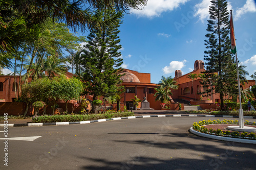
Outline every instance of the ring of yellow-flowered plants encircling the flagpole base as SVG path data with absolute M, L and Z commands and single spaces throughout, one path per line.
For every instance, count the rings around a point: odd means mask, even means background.
M 256 134 L 251 132 L 238 132 L 238 131 L 229 131 L 229 130 L 221 130 L 221 129 L 208 129 L 205 125 L 214 125 L 214 124 L 230 124 L 230 125 L 238 125 L 238 120 L 203 120 L 199 121 L 199 123 L 195 122 L 193 124 L 193 129 L 210 135 L 218 135 L 225 137 L 236 137 L 236 138 L 244 138 L 244 139 L 256 139 Z M 255 122 L 249 123 L 248 120 L 245 121 L 245 125 L 255 125 Z

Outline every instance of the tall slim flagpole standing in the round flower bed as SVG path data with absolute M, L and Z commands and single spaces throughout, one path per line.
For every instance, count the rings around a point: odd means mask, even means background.
M 233 16 L 232 16 L 232 10 L 230 10 L 230 15 L 232 19 L 232 25 L 233 25 Z M 230 24 L 231 27 L 231 24 Z M 231 29 L 230 29 L 231 30 Z M 231 33 L 230 34 L 234 34 Z M 231 38 L 231 36 L 230 36 Z M 233 37 L 234 38 L 234 37 Z M 236 39 L 234 39 L 234 43 L 236 44 Z M 241 103 L 241 90 L 240 90 L 240 79 L 239 79 L 239 69 L 238 69 L 238 55 L 237 55 L 237 51 L 236 51 L 236 63 L 237 63 L 237 74 L 238 74 L 238 93 L 239 93 L 239 105 L 240 105 L 240 109 L 239 109 L 239 127 L 240 128 L 244 128 L 244 113 L 243 113 L 243 109 L 242 109 L 242 103 Z

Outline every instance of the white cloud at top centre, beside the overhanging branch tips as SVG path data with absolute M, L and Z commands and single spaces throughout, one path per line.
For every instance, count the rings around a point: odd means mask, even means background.
M 150 0 L 147 1 L 147 5 L 142 10 L 131 9 L 133 14 L 138 17 L 158 17 L 162 12 L 173 11 L 179 8 L 180 5 L 185 4 L 189 0 Z

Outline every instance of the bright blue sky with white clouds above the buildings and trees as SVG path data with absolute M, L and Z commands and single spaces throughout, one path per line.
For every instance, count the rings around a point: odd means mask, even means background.
M 252 75 L 256 71 L 255 0 L 227 2 L 228 11 L 233 10 L 238 58 Z M 174 77 L 176 69 L 183 75 L 193 70 L 195 60 L 204 60 L 209 6 L 210 0 L 148 0 L 143 10 L 131 9 L 119 28 L 123 68 L 150 73 L 152 83 L 161 76 Z

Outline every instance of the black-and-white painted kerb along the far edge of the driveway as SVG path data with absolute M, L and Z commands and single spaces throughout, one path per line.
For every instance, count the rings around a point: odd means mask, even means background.
M 90 124 L 96 122 L 105 122 L 108 120 L 131 119 L 131 118 L 149 118 L 149 117 L 226 117 L 226 118 L 239 118 L 239 116 L 230 115 L 202 115 L 202 114 L 172 114 L 172 115 L 142 115 L 142 116 L 128 116 L 128 117 L 114 117 L 108 119 L 88 120 L 81 122 L 53 122 L 53 123 L 28 123 L 28 124 L 8 124 L 8 127 L 26 127 L 26 126 L 58 126 L 58 125 L 75 125 L 75 124 Z M 256 118 L 256 116 L 244 116 L 244 118 Z M 4 127 L 4 124 L 0 124 Z

